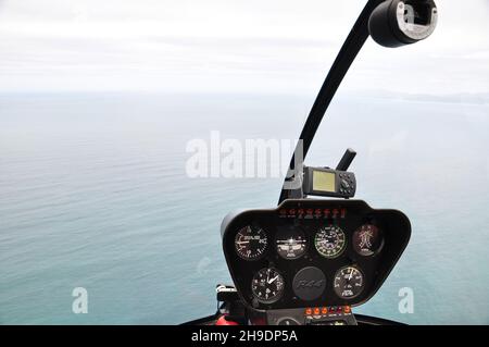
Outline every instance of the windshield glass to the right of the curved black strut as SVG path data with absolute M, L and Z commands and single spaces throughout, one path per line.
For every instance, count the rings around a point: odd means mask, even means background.
M 368 39 L 306 162 L 334 165 L 354 148 L 356 197 L 411 220 L 404 255 L 358 312 L 487 324 L 489 4 L 439 2 L 438 27 L 426 41 L 392 50 Z

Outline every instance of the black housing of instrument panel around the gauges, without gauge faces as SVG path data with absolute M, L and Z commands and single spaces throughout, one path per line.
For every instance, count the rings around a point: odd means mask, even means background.
M 329 214 L 324 213 L 326 210 Z M 299 211 L 303 213 L 299 214 Z M 367 223 L 381 230 L 384 244 L 375 255 L 365 257 L 354 250 L 352 235 L 361 225 Z M 319 256 L 314 247 L 316 231 L 330 224 L 340 226 L 347 238 L 344 251 L 335 259 Z M 267 234 L 267 248 L 263 257 L 256 260 L 243 260 L 235 250 L 236 234 L 247 225 L 260 226 Z M 302 257 L 285 259 L 277 253 L 276 235 L 283 228 L 301 228 L 305 233 L 308 249 Z M 398 210 L 372 209 L 362 200 L 288 199 L 275 209 L 229 213 L 223 221 L 221 232 L 227 267 L 242 301 L 251 309 L 275 310 L 359 306 L 366 302 L 380 288 L 408 246 L 411 223 L 408 216 Z M 351 299 L 337 296 L 333 286 L 336 272 L 346 265 L 359 268 L 364 275 L 364 289 Z M 326 288 L 322 296 L 314 300 L 300 299 L 292 288 L 294 275 L 306 267 L 316 267 L 326 276 Z M 251 292 L 252 277 L 263 268 L 277 269 L 285 280 L 284 295 L 273 303 L 258 301 Z

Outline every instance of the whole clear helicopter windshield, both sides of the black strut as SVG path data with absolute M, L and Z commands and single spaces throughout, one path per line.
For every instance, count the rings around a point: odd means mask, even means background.
M 231 283 L 221 222 L 276 205 L 365 3 L 343 2 L 0 2 L 0 323 L 214 313 L 215 285 Z M 489 5 L 457 3 L 439 4 L 426 42 L 366 42 L 306 159 L 335 166 L 354 148 L 356 197 L 412 221 L 361 313 L 489 323 Z M 254 158 L 259 139 L 280 153 Z M 233 148 L 241 157 L 226 166 Z

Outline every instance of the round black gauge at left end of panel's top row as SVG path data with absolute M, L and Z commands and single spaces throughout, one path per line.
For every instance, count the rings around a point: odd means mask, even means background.
M 258 226 L 244 226 L 235 237 L 236 252 L 244 260 L 259 259 L 264 255 L 266 245 L 266 234 Z

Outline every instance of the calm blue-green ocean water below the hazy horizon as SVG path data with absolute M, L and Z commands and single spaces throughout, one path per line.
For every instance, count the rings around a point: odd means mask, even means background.
M 174 324 L 211 314 L 230 278 L 220 224 L 273 207 L 281 181 L 189 178 L 186 145 L 293 139 L 313 99 L 251 95 L 1 95 L 0 323 Z M 342 96 L 306 160 L 347 147 L 356 197 L 397 208 L 411 243 L 358 312 L 489 324 L 489 104 Z M 287 163 L 284 163 L 285 165 Z M 72 290 L 88 290 L 74 314 Z M 414 293 L 401 313 L 399 290 Z

